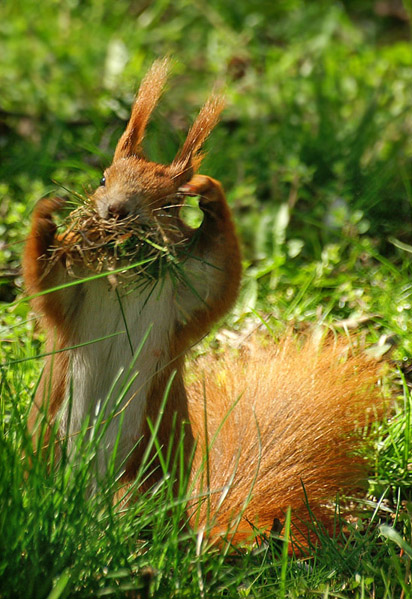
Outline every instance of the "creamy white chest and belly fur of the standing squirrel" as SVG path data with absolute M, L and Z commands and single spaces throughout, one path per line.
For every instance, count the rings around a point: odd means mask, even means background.
M 85 284 L 81 294 L 70 343 L 84 345 L 71 350 L 61 429 L 72 444 L 85 423 L 93 430 L 93 422 L 104 409 L 103 420 L 109 421 L 98 452 L 102 473 L 121 420 L 117 464 L 142 434 L 147 393 L 156 373 L 170 361 L 175 301 L 167 280 L 144 291 L 121 286 L 117 293 L 107 280 L 99 279 Z

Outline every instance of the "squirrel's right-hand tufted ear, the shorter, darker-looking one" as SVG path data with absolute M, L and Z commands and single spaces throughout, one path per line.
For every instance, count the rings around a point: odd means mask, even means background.
M 225 105 L 222 95 L 212 94 L 199 112 L 193 123 L 183 147 L 177 153 L 172 166 L 177 169 L 192 168 L 196 172 L 202 162 L 201 149 L 209 133 L 217 125 L 220 113 Z

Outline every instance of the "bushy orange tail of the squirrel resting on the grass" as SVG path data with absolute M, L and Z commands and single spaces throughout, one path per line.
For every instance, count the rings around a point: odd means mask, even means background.
M 289 506 L 307 520 L 305 492 L 322 518 L 326 500 L 359 485 L 355 432 L 382 411 L 380 365 L 354 355 L 347 340 L 321 349 L 258 341 L 231 358 L 200 359 L 189 389 L 199 439 L 193 479 L 207 496 L 200 524 L 211 517 L 223 532 L 232 523 L 239 538 L 254 526 L 270 530 Z

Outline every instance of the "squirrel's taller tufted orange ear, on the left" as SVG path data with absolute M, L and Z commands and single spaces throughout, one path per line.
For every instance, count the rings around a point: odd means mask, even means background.
M 141 142 L 146 125 L 162 94 L 169 68 L 170 60 L 163 58 L 155 60 L 146 73 L 133 104 L 126 131 L 117 143 L 113 162 L 119 160 L 119 158 L 127 158 L 133 155 L 142 156 Z

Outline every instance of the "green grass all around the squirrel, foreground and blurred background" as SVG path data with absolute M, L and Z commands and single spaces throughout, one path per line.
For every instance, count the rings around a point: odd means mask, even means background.
M 412 595 L 412 54 L 410 24 L 375 4 L 1 4 L 2 599 Z M 175 77 L 145 140 L 152 159 L 170 161 L 214 82 L 226 86 L 202 167 L 222 180 L 244 251 L 225 327 L 258 315 L 276 335 L 357 325 L 365 345 L 394 344 L 383 384 L 399 401 L 366 444 L 359 518 L 336 538 L 318 530 L 304 556 L 286 552 L 287 527 L 253 550 L 210 547 L 185 526 L 184 480 L 177 495 L 165 476 L 116 507 L 113 472 L 89 492 L 96 439 L 57 465 L 26 432 L 44 351 L 19 272 L 30 213 L 47 194 L 98 184 L 138 80 L 168 53 Z

